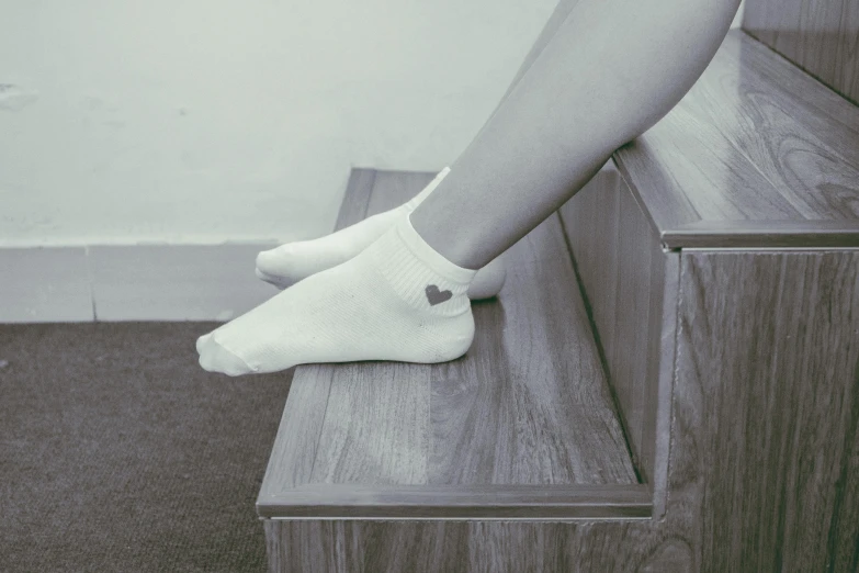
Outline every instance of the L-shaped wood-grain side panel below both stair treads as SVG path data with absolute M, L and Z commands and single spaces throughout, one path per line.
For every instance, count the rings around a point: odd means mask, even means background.
M 670 255 L 663 518 L 268 521 L 272 571 L 857 571 L 859 252 Z

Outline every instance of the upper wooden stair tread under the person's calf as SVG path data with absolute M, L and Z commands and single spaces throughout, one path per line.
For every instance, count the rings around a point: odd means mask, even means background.
M 859 246 L 859 108 L 741 30 L 613 159 L 668 248 Z

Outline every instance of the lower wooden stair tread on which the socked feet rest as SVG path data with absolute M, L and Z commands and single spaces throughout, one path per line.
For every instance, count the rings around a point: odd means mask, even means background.
M 402 204 L 432 177 L 353 170 L 338 227 Z M 498 300 L 474 303 L 465 357 L 296 369 L 260 515 L 286 510 L 290 493 L 308 486 L 324 496 L 320 484 L 624 485 L 644 495 L 557 215 L 504 257 L 507 282 Z

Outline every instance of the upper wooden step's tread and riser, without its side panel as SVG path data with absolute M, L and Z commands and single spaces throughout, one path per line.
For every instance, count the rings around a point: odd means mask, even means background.
M 561 215 L 659 514 L 675 360 L 663 338 L 675 335 L 681 251 L 859 247 L 859 108 L 732 31 L 682 101 L 602 175 Z

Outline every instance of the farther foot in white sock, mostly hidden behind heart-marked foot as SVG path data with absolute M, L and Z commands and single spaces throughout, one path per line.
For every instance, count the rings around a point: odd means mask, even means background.
M 342 265 L 381 237 L 395 222 L 411 213 L 450 171 L 439 172 L 417 196 L 407 203 L 370 216 L 330 235 L 313 239 L 287 243 L 257 256 L 257 277 L 283 290 L 298 281 Z M 507 269 L 500 258 L 493 260 L 475 274 L 468 297 L 491 299 L 504 286 Z

